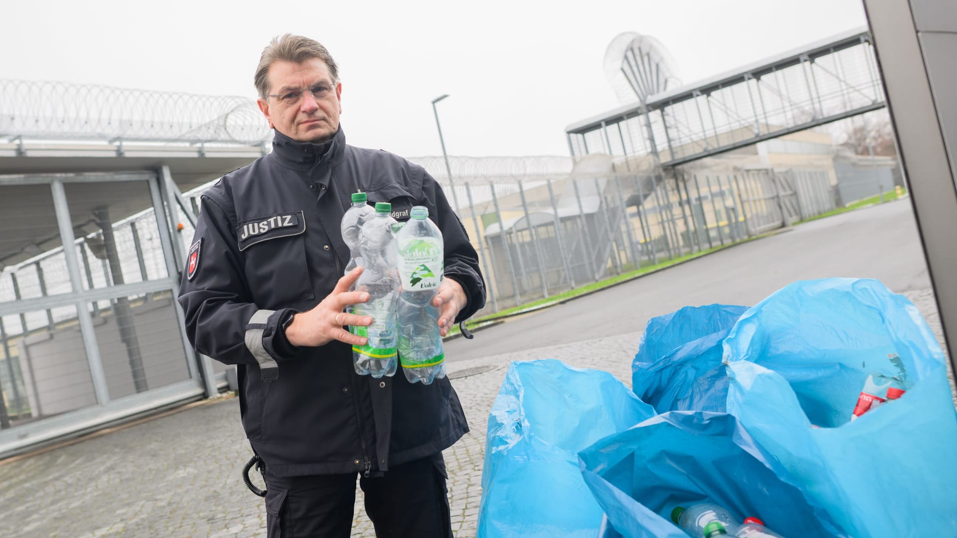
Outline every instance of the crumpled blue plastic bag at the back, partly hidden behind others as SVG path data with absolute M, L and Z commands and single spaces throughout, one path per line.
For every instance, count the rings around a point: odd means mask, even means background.
M 722 341 L 747 306 L 685 306 L 648 321 L 632 363 L 632 390 L 658 413 L 723 413 Z

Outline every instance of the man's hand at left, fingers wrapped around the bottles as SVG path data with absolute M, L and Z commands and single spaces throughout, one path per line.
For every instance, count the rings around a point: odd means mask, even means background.
M 286 326 L 289 343 L 293 346 L 317 347 L 338 340 L 354 346 L 365 345 L 366 337 L 356 336 L 343 328 L 343 325 L 372 325 L 369 316 L 345 313 L 346 306 L 368 301 L 367 292 L 349 291 L 349 286 L 359 280 L 362 271 L 362 267 L 356 267 L 339 279 L 332 293 L 325 296 L 322 303 L 308 312 L 293 316 L 293 321 Z

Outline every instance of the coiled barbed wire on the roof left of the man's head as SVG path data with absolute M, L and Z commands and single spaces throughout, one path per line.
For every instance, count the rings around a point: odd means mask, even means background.
M 248 98 L 0 79 L 0 137 L 257 146 L 270 136 Z

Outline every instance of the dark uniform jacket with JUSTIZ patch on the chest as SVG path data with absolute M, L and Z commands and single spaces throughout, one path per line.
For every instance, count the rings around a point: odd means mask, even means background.
M 391 202 L 407 220 L 429 208 L 442 232 L 445 277 L 468 298 L 456 321 L 485 302 L 475 249 L 424 168 L 381 150 L 276 132 L 273 152 L 202 196 L 179 302 L 193 347 L 237 365 L 243 427 L 277 476 L 361 471 L 432 456 L 468 432 L 447 378 L 431 385 L 357 375 L 351 347 L 293 347 L 284 324 L 320 303 L 344 274 L 340 222 L 349 195 Z

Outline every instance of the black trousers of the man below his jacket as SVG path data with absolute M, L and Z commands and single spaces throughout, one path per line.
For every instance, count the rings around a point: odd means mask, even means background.
M 352 531 L 356 476 L 280 478 L 266 467 L 269 538 L 343 537 Z M 378 538 L 453 538 L 442 454 L 361 478 L 366 513 Z

